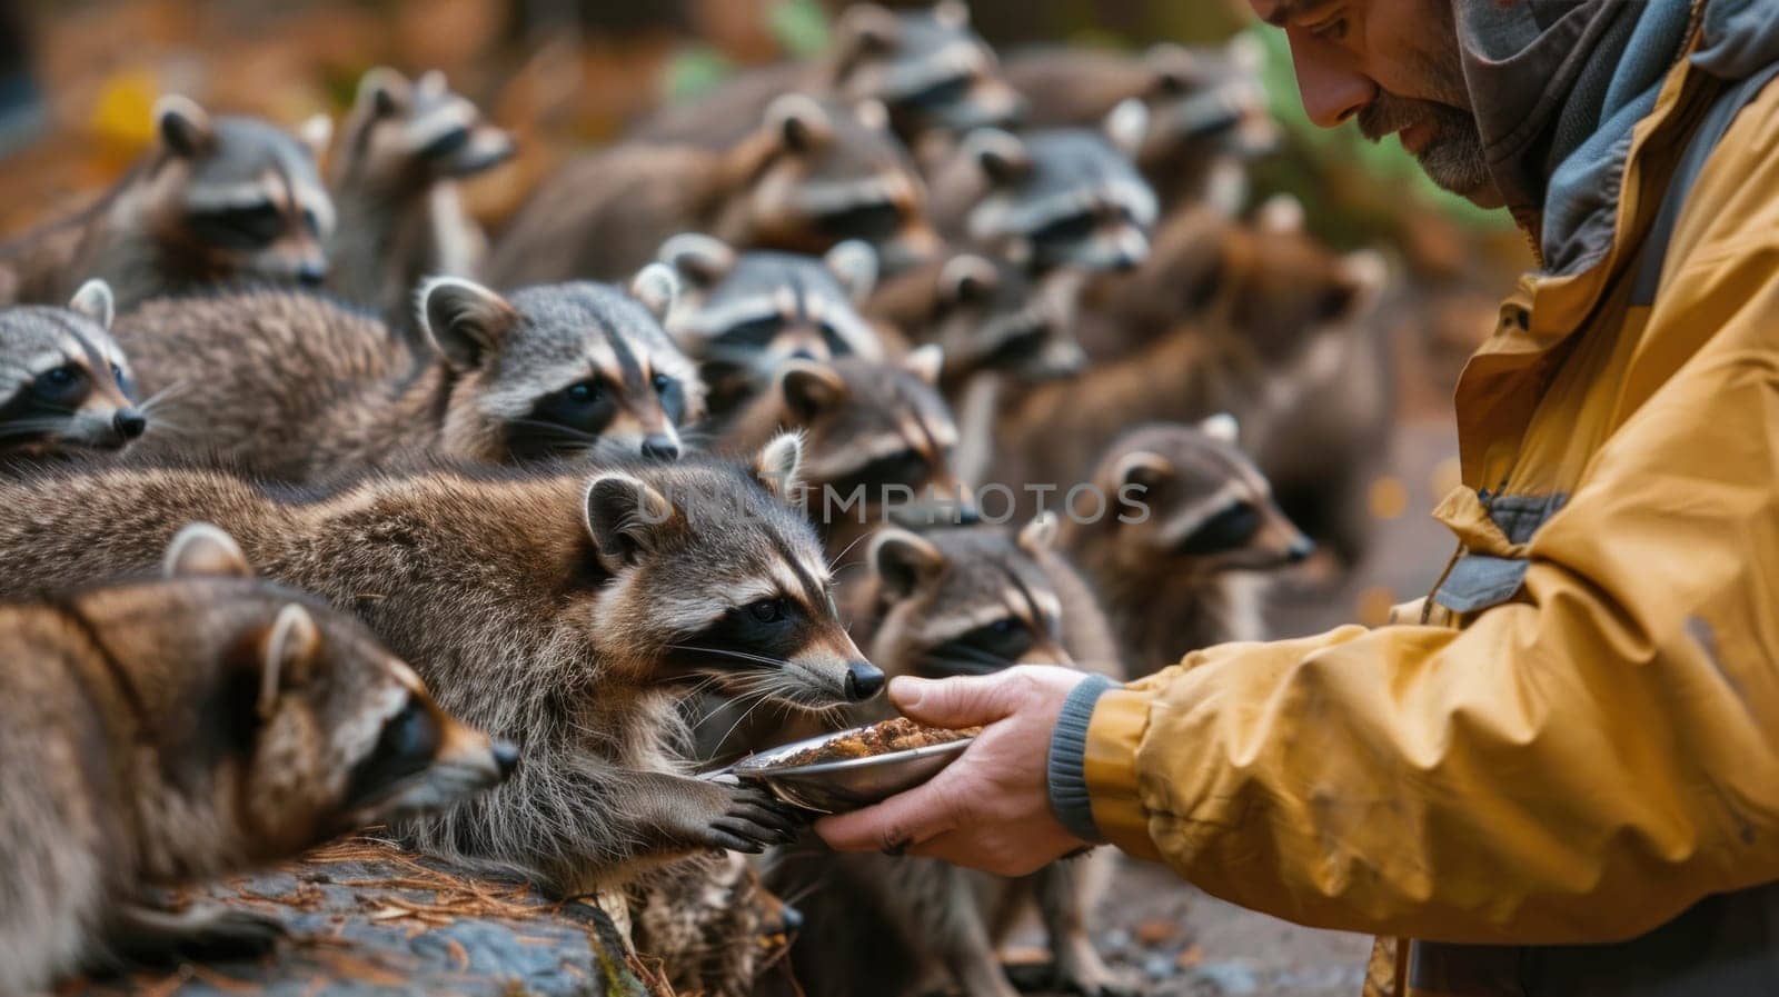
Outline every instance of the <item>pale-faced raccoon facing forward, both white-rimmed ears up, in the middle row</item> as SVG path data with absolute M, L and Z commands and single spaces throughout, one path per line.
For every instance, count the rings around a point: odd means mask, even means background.
M 719 423 L 765 391 L 785 361 L 886 352 L 856 311 L 877 279 L 877 254 L 863 242 L 813 258 L 737 252 L 722 240 L 681 233 L 658 258 L 681 286 L 664 325 L 697 361 Z

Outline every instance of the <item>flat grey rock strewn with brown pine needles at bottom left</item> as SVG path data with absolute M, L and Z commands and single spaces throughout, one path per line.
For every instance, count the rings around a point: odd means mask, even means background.
M 201 890 L 290 929 L 247 961 L 71 981 L 59 995 L 664 997 L 614 919 L 511 881 L 354 839 L 270 873 Z

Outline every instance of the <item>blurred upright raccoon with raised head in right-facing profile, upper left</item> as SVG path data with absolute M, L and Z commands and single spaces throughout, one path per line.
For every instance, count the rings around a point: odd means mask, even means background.
M 452 92 L 445 75 L 409 80 L 377 68 L 358 82 L 327 185 L 352 220 L 334 233 L 327 286 L 413 331 L 409 299 L 423 277 L 470 277 L 487 251 L 457 195 L 457 181 L 516 151 L 512 135 Z

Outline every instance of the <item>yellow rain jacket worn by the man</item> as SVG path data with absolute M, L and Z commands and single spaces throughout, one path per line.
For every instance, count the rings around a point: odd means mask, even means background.
M 1418 624 L 1099 700 L 1114 844 L 1386 937 L 1368 995 L 1779 993 L 1779 85 L 1747 84 L 1676 64 L 1610 251 L 1503 304 Z

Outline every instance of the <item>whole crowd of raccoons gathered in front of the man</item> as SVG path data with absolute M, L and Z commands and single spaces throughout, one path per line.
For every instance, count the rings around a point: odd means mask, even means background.
M 1012 993 L 1034 901 L 1046 985 L 1119 992 L 1101 864 L 838 857 L 696 773 L 888 675 L 1258 638 L 1260 572 L 1357 556 L 1382 267 L 1238 211 L 1254 73 L 857 5 L 491 238 L 455 185 L 514 144 L 438 73 L 338 135 L 164 98 L 0 245 L 0 993 L 260 951 L 158 890 L 375 823 L 624 897 L 688 992 L 754 992 L 772 894 L 815 997 Z

